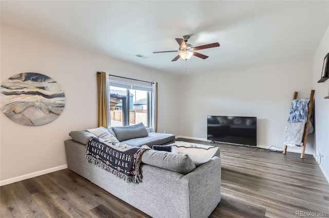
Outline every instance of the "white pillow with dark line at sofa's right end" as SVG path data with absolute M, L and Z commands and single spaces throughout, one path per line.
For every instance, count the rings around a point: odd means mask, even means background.
M 217 152 L 218 147 L 193 143 L 174 143 L 171 149 L 172 152 L 186 153 L 195 166 L 199 166 L 208 162 Z

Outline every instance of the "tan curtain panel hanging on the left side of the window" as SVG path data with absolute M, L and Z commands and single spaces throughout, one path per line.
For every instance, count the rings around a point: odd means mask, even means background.
M 97 72 L 98 126 L 108 127 L 108 75 Z

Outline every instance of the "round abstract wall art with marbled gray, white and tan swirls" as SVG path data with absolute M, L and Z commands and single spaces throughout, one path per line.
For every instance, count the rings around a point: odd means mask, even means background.
M 50 123 L 65 107 L 62 87 L 40 73 L 20 73 L 0 87 L 1 111 L 10 120 L 27 126 Z

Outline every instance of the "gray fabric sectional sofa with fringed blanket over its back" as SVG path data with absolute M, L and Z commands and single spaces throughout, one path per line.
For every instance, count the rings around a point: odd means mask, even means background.
M 127 183 L 87 162 L 88 132 L 72 131 L 70 135 L 72 140 L 64 142 L 70 170 L 154 218 L 206 218 L 221 201 L 221 158 L 218 156 L 196 167 L 185 153 L 150 149 L 141 157 L 142 182 Z M 149 133 L 125 143 L 146 142 L 152 147 L 151 138 L 158 138 L 158 142 L 173 140 L 171 137 L 165 140 L 167 136 Z

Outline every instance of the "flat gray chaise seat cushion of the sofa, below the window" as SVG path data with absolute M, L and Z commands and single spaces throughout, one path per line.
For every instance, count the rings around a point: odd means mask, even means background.
M 175 135 L 169 133 L 158 133 L 149 132 L 146 137 L 133 138 L 126 141 L 120 141 L 130 146 L 140 147 L 142 145 L 147 145 L 152 148 L 153 145 L 163 145 L 166 143 L 173 142 L 175 140 Z

